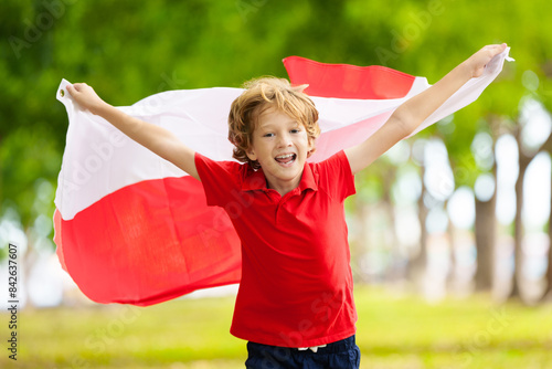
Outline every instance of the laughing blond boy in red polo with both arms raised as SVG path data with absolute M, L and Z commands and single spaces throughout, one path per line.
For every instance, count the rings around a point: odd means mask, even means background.
M 300 87 L 282 80 L 257 80 L 232 104 L 229 139 L 234 158 L 246 165 L 194 152 L 164 128 L 106 104 L 86 84 L 67 91 L 83 108 L 200 180 L 208 203 L 226 209 L 243 264 L 231 331 L 248 340 L 247 368 L 358 368 L 343 213 L 353 176 L 505 49 L 485 46 L 405 102 L 364 143 L 318 164 L 306 162 L 319 134 L 318 112 Z M 238 211 L 227 207 L 236 194 Z

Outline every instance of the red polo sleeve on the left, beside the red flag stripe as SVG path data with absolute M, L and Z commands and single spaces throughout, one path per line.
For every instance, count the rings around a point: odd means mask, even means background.
M 215 161 L 195 152 L 195 168 L 200 176 L 208 205 L 224 207 L 238 188 L 240 164 Z

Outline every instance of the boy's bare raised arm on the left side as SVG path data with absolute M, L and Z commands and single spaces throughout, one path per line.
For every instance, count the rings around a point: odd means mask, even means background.
M 171 131 L 131 117 L 113 107 L 85 83 L 67 85 L 67 91 L 81 107 L 103 117 L 132 140 L 169 160 L 193 178 L 200 179 L 195 169 L 195 152 L 182 144 Z

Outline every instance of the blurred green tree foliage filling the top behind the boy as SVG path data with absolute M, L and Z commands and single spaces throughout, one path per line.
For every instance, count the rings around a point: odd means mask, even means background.
M 537 92 L 552 108 L 549 10 L 544 0 L 4 0 L 0 217 L 15 210 L 32 247 L 36 220 L 52 215 L 53 203 L 38 207 L 34 200 L 44 180 L 55 188 L 60 169 L 67 118 L 53 93 L 62 77 L 88 82 L 114 105 L 166 89 L 285 76 L 280 61 L 291 54 L 328 63 L 383 64 L 435 82 L 485 43 L 506 41 L 518 61 L 477 103 L 455 114 L 452 124 L 421 134 L 439 131 L 456 184 L 474 186 L 485 171 L 469 147 L 478 131 L 488 129 L 479 118 L 518 117 L 524 71 L 539 76 Z

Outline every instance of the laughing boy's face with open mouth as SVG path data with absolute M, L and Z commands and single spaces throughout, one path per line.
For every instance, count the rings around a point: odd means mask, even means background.
M 311 149 L 305 127 L 287 114 L 270 108 L 258 117 L 247 156 L 258 161 L 269 188 L 287 193 L 299 184 Z

